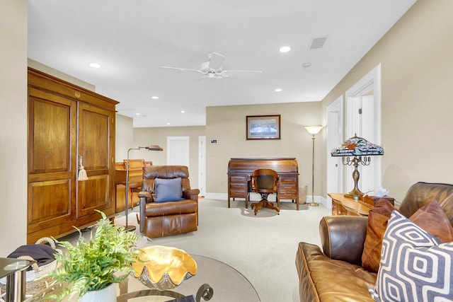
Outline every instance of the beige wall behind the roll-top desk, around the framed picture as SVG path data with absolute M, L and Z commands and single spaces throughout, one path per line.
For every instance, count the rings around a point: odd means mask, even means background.
M 247 115 L 281 115 L 281 139 L 246 140 Z M 306 132 L 304 126 L 319 124 L 320 102 L 208 107 L 206 191 L 228 192 L 228 162 L 235 157 L 294 157 L 299 163 L 299 187 L 310 187 L 311 134 Z M 211 139 L 217 139 L 217 144 L 210 144 Z M 316 141 L 315 170 L 318 171 L 321 166 L 321 150 L 317 149 L 319 145 L 319 141 Z M 315 195 L 320 194 L 320 188 L 321 173 L 315 173 Z

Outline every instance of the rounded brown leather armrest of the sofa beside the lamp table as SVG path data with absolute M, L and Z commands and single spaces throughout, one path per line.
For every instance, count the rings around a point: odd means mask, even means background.
M 365 216 L 323 217 L 319 223 L 319 236 L 324 254 L 331 259 L 362 265 L 367 220 Z

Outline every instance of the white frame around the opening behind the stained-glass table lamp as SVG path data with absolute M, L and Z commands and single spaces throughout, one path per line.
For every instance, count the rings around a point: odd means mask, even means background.
M 357 100 L 357 96 L 362 95 L 365 91 L 373 90 L 374 93 L 374 106 L 372 110 L 374 111 L 372 114 L 374 116 L 374 129 L 373 140 L 371 141 L 373 144 L 380 145 L 381 144 L 381 64 L 379 63 L 374 69 L 369 71 L 367 75 L 365 75 L 362 79 L 357 81 L 351 88 L 348 89 L 345 93 L 346 97 L 346 127 L 345 127 L 345 139 L 354 136 L 354 127 L 353 122 L 354 118 L 353 115 L 356 115 L 355 109 L 357 106 L 355 105 L 355 100 Z M 357 134 L 359 135 L 359 134 Z M 366 139 L 366 138 L 365 138 Z M 372 156 L 372 166 L 374 167 L 374 188 L 381 185 L 381 175 L 382 175 L 382 167 L 381 167 L 381 157 L 380 156 Z M 359 168 L 362 168 L 362 165 L 359 165 Z M 372 167 L 368 167 L 372 168 Z M 367 170 L 364 170 L 364 173 L 367 173 Z M 352 190 L 354 187 L 354 182 L 352 180 L 352 167 L 346 167 L 346 180 L 345 180 L 345 192 Z M 360 175 L 362 178 L 362 173 Z

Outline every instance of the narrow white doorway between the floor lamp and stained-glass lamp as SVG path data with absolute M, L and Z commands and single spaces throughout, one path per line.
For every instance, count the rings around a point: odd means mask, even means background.
M 326 108 L 327 117 L 327 192 L 343 192 L 343 164 L 339 156 L 331 156 L 331 151 L 343 142 L 343 95 Z M 332 199 L 327 196 L 327 209 L 332 208 Z

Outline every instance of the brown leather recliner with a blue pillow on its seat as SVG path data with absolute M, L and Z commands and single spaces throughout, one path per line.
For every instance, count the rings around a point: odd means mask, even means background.
M 155 179 L 181 178 L 183 200 L 155 202 Z M 198 194 L 190 189 L 189 170 L 185 165 L 147 165 L 143 168 L 140 198 L 140 232 L 149 238 L 197 231 Z

